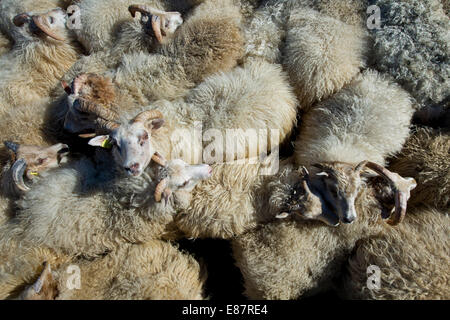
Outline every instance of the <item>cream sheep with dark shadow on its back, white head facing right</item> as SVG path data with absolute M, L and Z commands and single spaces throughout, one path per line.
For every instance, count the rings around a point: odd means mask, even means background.
M 168 169 L 152 163 L 140 177 L 124 177 L 109 155 L 97 164 L 88 158 L 71 161 L 42 177 L 16 201 L 15 217 L 1 226 L 0 244 L 8 248 L 9 242 L 17 241 L 96 257 L 126 242 L 176 239 L 171 227 L 175 209 L 153 197 L 167 174 L 176 183 L 171 201 L 183 203 L 193 187 L 210 176 L 211 168 L 171 160 Z

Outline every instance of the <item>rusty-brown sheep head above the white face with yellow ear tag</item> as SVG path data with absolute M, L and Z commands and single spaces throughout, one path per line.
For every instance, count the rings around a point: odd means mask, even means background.
M 70 86 L 64 81 L 62 86 L 68 95 L 69 105 L 64 130 L 92 138 L 99 131 L 108 133 L 117 127 L 116 95 L 111 79 L 83 73 Z

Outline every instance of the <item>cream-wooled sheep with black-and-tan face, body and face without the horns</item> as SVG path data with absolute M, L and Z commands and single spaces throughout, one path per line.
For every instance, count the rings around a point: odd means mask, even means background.
M 367 160 L 384 165 L 401 150 L 413 111 L 408 93 L 367 70 L 304 116 L 296 164 L 311 172 L 312 188 L 320 190 L 344 223 L 356 219 L 358 170 L 363 172 Z

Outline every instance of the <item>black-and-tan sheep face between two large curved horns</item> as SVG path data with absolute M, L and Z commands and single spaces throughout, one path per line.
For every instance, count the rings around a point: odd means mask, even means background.
M 356 167 L 339 162 L 314 165 L 319 172 L 311 176 L 313 188 L 343 223 L 352 223 L 356 219 L 355 199 L 362 184 L 360 174 L 364 164 Z

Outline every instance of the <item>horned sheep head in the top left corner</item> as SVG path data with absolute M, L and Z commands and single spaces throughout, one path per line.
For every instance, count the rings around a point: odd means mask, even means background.
M 31 37 L 48 36 L 58 41 L 66 39 L 66 22 L 67 14 L 61 8 L 38 15 L 21 13 L 13 18 L 14 25 L 24 28 Z

